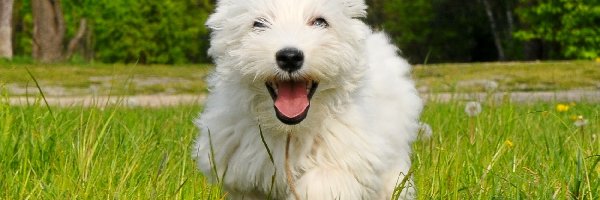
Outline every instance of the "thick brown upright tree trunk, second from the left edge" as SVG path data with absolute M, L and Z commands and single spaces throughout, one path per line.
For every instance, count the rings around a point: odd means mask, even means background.
M 33 58 L 56 62 L 63 58 L 65 21 L 60 0 L 32 0 Z

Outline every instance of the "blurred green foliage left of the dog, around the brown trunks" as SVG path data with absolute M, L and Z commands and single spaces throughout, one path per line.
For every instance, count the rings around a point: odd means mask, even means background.
M 181 64 L 207 62 L 204 21 L 209 0 L 64 0 L 67 39 L 82 18 L 88 32 L 79 56 L 114 63 Z M 31 54 L 30 0 L 16 5 L 16 54 Z M 77 58 L 75 58 L 77 59 Z

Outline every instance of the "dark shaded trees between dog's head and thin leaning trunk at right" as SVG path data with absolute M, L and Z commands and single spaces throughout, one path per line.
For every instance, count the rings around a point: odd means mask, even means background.
M 482 4 L 470 0 L 370 0 L 383 28 L 411 63 L 497 60 Z

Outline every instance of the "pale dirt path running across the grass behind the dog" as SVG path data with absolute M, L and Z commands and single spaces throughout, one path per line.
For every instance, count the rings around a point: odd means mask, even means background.
M 489 96 L 491 95 L 491 96 Z M 512 102 L 528 103 L 537 101 L 547 102 L 598 102 L 600 103 L 600 90 L 570 90 L 556 92 L 512 92 L 512 93 L 434 93 L 422 94 L 423 99 L 430 101 L 447 102 L 450 100 L 459 101 L 483 101 L 486 98 L 494 98 L 495 100 L 506 100 L 509 98 Z M 93 105 L 110 105 L 121 104 L 126 106 L 144 106 L 144 107 L 160 107 L 160 106 L 175 106 L 182 104 L 201 105 L 206 99 L 205 95 L 137 95 L 137 96 L 75 96 L 75 97 L 48 97 L 46 100 L 50 105 L 55 106 L 93 106 Z M 10 97 L 9 101 L 12 105 L 27 105 L 32 104 L 36 100 L 35 97 Z

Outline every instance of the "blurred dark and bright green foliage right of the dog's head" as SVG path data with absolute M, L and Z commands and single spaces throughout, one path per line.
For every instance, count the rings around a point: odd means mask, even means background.
M 412 63 L 494 61 L 483 1 L 507 60 L 600 56 L 600 0 L 367 0 L 368 21 Z

